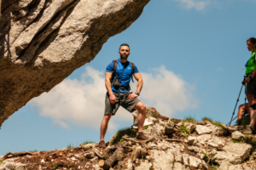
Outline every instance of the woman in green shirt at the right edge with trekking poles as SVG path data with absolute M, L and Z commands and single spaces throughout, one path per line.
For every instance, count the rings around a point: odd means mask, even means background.
M 247 78 L 242 83 L 245 83 L 245 94 L 247 95 L 249 107 L 249 114 L 251 116 L 250 125 L 242 132 L 244 134 L 252 134 L 256 124 L 256 38 L 251 37 L 247 40 L 247 48 L 252 52 L 250 59 L 248 59 L 246 66 Z

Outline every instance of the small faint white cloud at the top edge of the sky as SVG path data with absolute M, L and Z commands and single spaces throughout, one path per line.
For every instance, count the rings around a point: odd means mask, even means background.
M 202 10 L 207 8 L 212 2 L 211 0 L 176 0 L 185 8 L 195 8 L 196 10 Z

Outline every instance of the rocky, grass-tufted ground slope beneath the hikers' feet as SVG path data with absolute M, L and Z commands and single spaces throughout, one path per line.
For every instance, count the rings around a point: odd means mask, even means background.
M 135 124 L 136 117 L 135 114 Z M 221 123 L 184 121 L 161 116 L 147 108 L 147 141 L 134 139 L 126 128 L 113 135 L 112 144 L 80 144 L 71 149 L 8 153 L 0 170 L 21 169 L 256 169 L 255 135 L 244 136 Z M 136 127 L 136 125 L 134 125 Z

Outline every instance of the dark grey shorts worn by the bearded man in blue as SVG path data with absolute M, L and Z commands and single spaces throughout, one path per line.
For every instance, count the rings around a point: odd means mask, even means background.
M 121 102 L 121 100 L 123 99 L 124 97 L 124 94 L 120 94 L 120 98 L 118 98 L 118 94 L 115 94 L 115 98 L 116 98 L 116 102 L 115 104 L 111 104 L 110 103 L 110 99 L 109 99 L 109 94 L 107 93 L 106 94 L 106 99 L 105 99 L 105 113 L 104 115 L 109 115 L 109 114 L 113 114 L 115 115 L 115 113 L 119 110 L 119 106 L 121 105 L 123 108 L 125 108 L 125 110 L 127 111 L 130 111 L 130 112 L 133 112 L 135 111 L 133 108 L 135 107 L 135 105 L 137 105 L 138 102 L 140 102 L 139 99 L 137 98 L 134 98 L 132 100 L 128 99 L 128 95 L 131 94 L 126 94 L 126 97 L 125 97 L 125 102 Z M 113 116 L 112 115 L 112 116 Z

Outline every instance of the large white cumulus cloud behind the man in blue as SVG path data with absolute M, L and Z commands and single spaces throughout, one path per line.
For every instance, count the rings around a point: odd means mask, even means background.
M 155 107 L 162 115 L 172 116 L 177 111 L 193 108 L 197 99 L 195 89 L 183 78 L 166 70 L 164 66 L 155 68 L 143 76 L 143 92 L 140 99 L 145 105 Z M 99 128 L 104 113 L 105 73 L 90 66 L 84 70 L 80 79 L 65 79 L 55 88 L 32 99 L 30 105 L 36 105 L 41 116 L 52 118 L 61 127 L 70 128 L 71 124 Z M 137 83 L 131 83 L 131 90 L 136 91 Z M 114 120 L 131 122 L 132 116 L 124 109 L 119 109 Z M 117 121 L 109 122 L 108 127 L 118 127 Z

